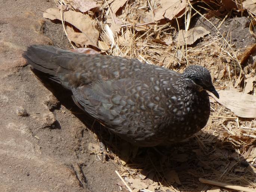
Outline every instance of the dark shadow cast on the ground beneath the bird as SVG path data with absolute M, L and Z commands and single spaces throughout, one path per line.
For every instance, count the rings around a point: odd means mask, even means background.
M 232 177 L 235 183 L 234 174 L 240 178 L 246 173 L 249 164 L 236 152 L 231 142 L 222 141 L 204 131 L 200 131 L 196 137 L 168 147 L 132 146 L 76 106 L 70 91 L 58 83 L 49 81 L 41 72 L 35 70 L 33 72 L 62 105 L 71 109 L 70 111 L 87 128 L 98 135 L 107 149 L 122 160 L 121 164 L 129 174 L 135 175 L 139 172 L 135 177 L 140 175 L 144 181 L 150 179 L 153 182 L 160 182 L 162 186 L 174 186 L 182 191 L 201 191 L 205 185 L 198 181 L 200 177 L 214 180 Z M 235 172 L 235 169 L 245 172 Z

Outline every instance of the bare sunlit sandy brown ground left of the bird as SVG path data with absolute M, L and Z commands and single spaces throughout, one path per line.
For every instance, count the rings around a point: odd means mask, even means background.
M 116 167 L 90 154 L 96 136 L 71 113 L 78 109 L 61 105 L 21 56 L 31 44 L 70 48 L 59 24 L 42 18 L 41 10 L 53 6 L 47 0 L 1 2 L 0 191 L 116 191 Z M 24 109 L 28 116 L 20 116 Z

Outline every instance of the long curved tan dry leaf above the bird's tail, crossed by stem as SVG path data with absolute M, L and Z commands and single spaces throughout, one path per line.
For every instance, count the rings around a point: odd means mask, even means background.
M 58 9 L 47 9 L 46 12 L 43 13 L 43 17 L 51 20 L 61 20 L 61 12 Z M 63 20 L 70 23 L 80 30 L 84 35 L 86 35 L 87 39 L 90 40 L 90 45 L 97 47 L 99 31 L 95 27 L 95 20 L 91 19 L 88 15 L 84 15 L 83 13 L 72 10 L 63 12 Z

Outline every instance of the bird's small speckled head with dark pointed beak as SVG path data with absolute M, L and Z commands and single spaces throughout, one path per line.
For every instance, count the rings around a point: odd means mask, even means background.
M 207 90 L 219 99 L 219 94 L 212 84 L 210 72 L 203 66 L 188 66 L 182 74 L 182 79 L 186 81 L 189 87 L 199 91 Z

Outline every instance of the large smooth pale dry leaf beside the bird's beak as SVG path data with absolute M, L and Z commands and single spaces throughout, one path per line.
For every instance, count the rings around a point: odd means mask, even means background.
M 212 93 L 209 94 L 238 117 L 256 118 L 256 96 L 231 90 L 220 90 L 218 93 L 219 99 Z

